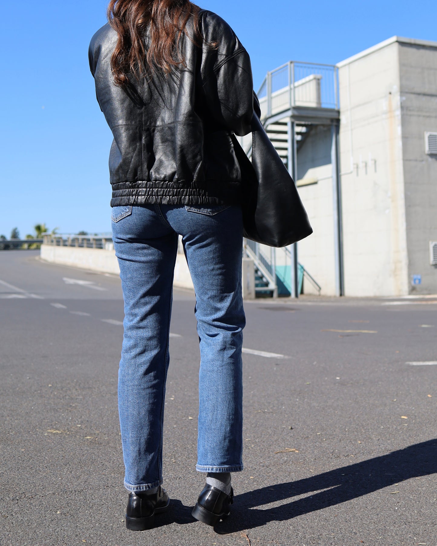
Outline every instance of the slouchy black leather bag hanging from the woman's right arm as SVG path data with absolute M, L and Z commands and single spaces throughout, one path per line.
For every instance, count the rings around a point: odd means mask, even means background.
M 244 236 L 264 245 L 282 247 L 311 235 L 296 185 L 255 112 L 252 162 L 234 135 L 232 141 L 241 169 Z

